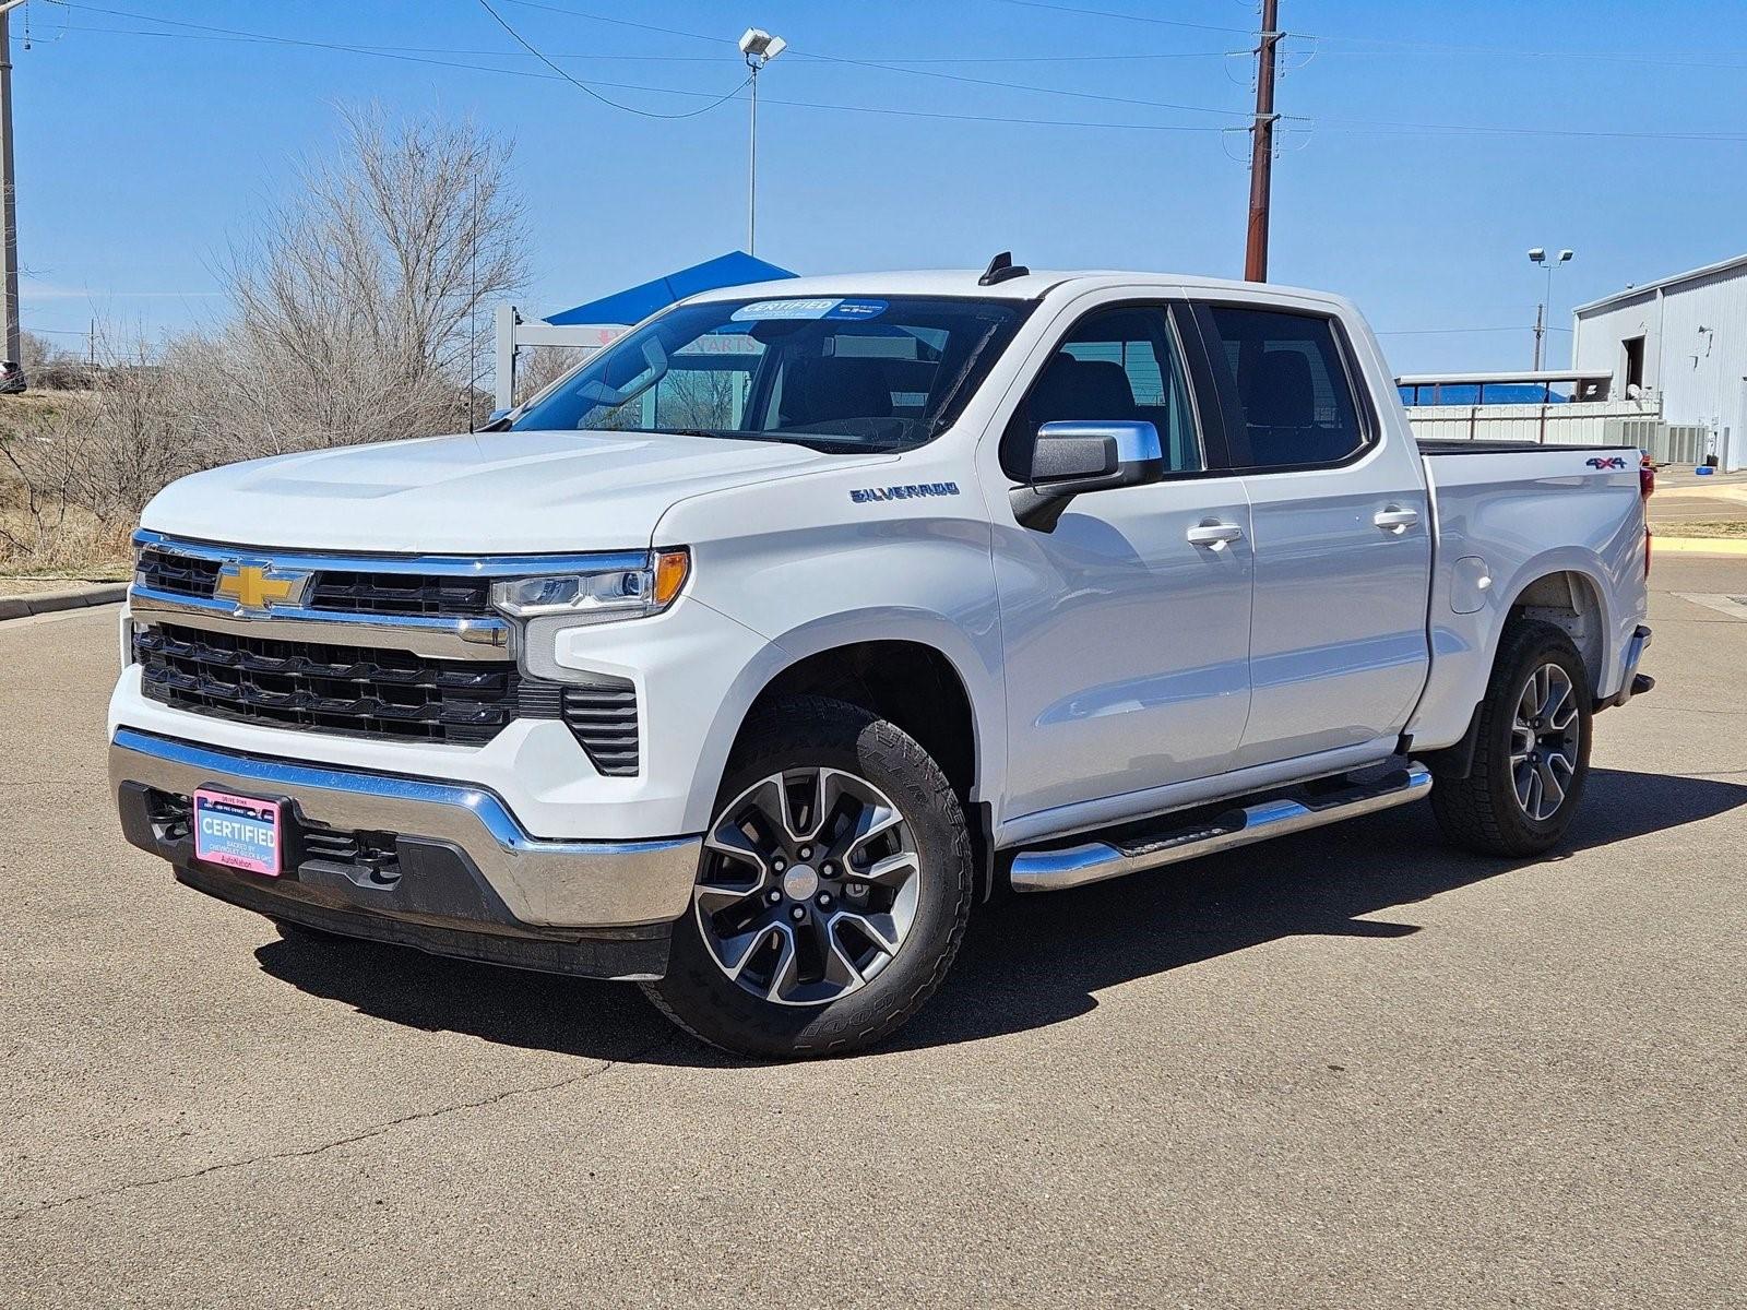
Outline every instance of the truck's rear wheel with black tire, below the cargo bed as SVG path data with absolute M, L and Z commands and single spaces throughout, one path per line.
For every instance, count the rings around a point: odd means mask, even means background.
M 1557 741 L 1562 728 L 1523 713 L 1539 697 L 1539 692 L 1530 695 L 1530 678 L 1546 672 L 1557 692 L 1558 672 L 1550 671 L 1562 672 L 1569 686 L 1576 709 L 1571 718 L 1576 730 L 1574 744 Z M 1557 721 L 1560 714 L 1555 713 L 1551 718 Z M 1530 741 L 1523 723 L 1543 723 L 1546 732 Z M 1536 856 L 1553 847 L 1565 835 L 1583 802 L 1583 786 L 1590 776 L 1590 679 L 1571 638 L 1539 620 L 1511 624 L 1492 665 L 1487 699 L 1481 702 L 1473 772 L 1462 779 L 1440 779 L 1431 793 L 1433 812 L 1443 835 L 1457 845 L 1488 856 Z M 1565 765 L 1557 763 L 1555 755 L 1560 758 L 1569 755 L 1569 777 Z M 1534 763 L 1536 760 L 1541 763 Z M 1530 779 L 1527 798 L 1525 769 L 1543 779 L 1539 783 Z M 1551 783 L 1546 781 L 1550 776 Z

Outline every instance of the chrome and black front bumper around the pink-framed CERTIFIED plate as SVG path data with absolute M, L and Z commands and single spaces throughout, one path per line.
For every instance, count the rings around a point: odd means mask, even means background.
M 288 802 L 295 840 L 285 877 L 194 861 L 192 838 L 175 816 L 201 786 Z M 545 948 L 554 964 L 503 962 L 594 976 L 601 968 L 580 959 L 564 964 L 566 952 L 549 947 L 659 943 L 664 966 L 667 933 L 690 903 L 701 849 L 699 837 L 542 840 L 486 788 L 262 758 L 126 727 L 110 744 L 110 789 L 129 842 L 222 900 L 353 936 L 405 940 L 421 929 L 498 938 L 487 947 L 501 947 L 501 940 L 545 943 L 535 954 Z M 344 854 L 349 835 L 363 838 L 355 856 Z M 391 879 L 383 875 L 384 865 L 391 865 Z M 349 926 L 337 926 L 332 915 L 346 915 Z M 425 945 L 498 959 L 479 948 Z M 606 976 L 660 973 L 645 968 L 650 950 L 631 955 L 639 968 Z

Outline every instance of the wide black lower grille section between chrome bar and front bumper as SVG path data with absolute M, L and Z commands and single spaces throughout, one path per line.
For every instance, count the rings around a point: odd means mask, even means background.
M 479 746 L 515 718 L 542 716 L 540 697 L 521 704 L 524 683 L 508 660 L 433 660 L 168 624 L 135 632 L 135 657 L 154 700 L 285 728 Z

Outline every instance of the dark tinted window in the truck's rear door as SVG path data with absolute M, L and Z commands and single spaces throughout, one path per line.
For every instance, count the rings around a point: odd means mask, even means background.
M 1211 306 L 1209 316 L 1214 369 L 1235 388 L 1251 466 L 1333 465 L 1364 445 L 1331 320 L 1240 306 Z

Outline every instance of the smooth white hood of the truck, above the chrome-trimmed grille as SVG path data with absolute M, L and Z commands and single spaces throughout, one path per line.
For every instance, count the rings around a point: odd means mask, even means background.
M 618 431 L 496 431 L 252 459 L 164 487 L 142 527 L 255 547 L 407 554 L 645 548 L 674 503 L 891 456 Z

